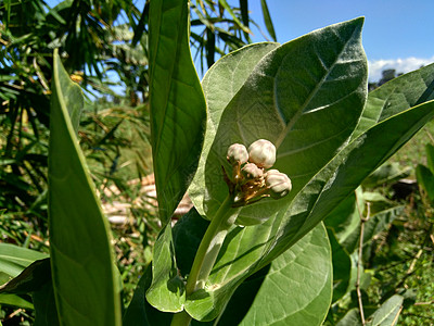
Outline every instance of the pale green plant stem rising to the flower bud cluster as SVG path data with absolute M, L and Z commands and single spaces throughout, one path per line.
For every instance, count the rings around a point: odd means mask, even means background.
M 221 246 L 230 227 L 237 220 L 240 208 L 232 208 L 233 197 L 228 195 L 216 214 L 213 216 L 208 228 L 199 246 L 194 262 L 186 285 L 187 298 L 196 290 L 203 289 L 209 273 L 217 260 Z M 190 325 L 191 316 L 182 311 L 174 315 L 171 326 Z

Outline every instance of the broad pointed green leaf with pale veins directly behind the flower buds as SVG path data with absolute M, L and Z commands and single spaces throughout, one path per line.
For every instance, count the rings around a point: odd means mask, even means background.
M 273 142 L 278 148 L 275 167 L 293 183 L 285 200 L 263 200 L 243 209 L 239 222 L 245 225 L 288 206 L 292 195 L 333 158 L 357 124 L 365 102 L 367 63 L 360 43 L 361 25 L 362 20 L 355 20 L 314 32 L 277 48 L 255 66 L 225 109 L 215 137 L 206 135 L 213 146 L 206 162 L 201 162 L 205 180 L 197 177 L 195 183 L 201 189 L 196 192 L 202 191 L 205 200 L 203 208 L 200 198 L 194 204 L 207 218 L 227 196 L 221 166 L 229 171 L 226 151 L 234 142 L 248 146 L 259 138 Z M 220 85 L 218 80 L 215 84 Z M 212 89 L 204 90 L 208 98 Z M 221 108 L 207 104 L 209 115 Z

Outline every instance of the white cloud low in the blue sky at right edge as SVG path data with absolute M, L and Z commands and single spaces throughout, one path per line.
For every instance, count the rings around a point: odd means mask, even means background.
M 434 55 L 427 59 L 423 58 L 406 58 L 406 59 L 391 59 L 391 60 L 374 60 L 368 61 L 368 75 L 369 82 L 379 82 L 382 77 L 382 71 L 393 68 L 397 74 L 408 73 L 420 68 L 422 65 L 427 65 L 434 62 Z

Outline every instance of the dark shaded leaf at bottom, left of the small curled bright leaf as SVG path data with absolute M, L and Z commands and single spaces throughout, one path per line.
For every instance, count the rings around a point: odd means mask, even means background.
M 152 283 L 151 265 L 148 265 L 140 277 L 135 296 L 123 317 L 124 326 L 168 326 L 173 314 L 163 313 L 148 303 L 145 292 Z

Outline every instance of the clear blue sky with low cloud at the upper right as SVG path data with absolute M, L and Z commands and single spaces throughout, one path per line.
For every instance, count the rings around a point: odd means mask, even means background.
M 384 68 L 406 73 L 434 62 L 433 0 L 267 0 L 267 3 L 279 42 L 365 16 L 362 42 L 370 80 L 378 80 Z M 260 0 L 250 0 L 248 4 L 253 20 L 264 26 Z M 264 40 L 258 30 L 253 32 L 255 41 Z

